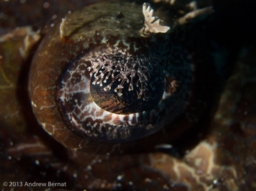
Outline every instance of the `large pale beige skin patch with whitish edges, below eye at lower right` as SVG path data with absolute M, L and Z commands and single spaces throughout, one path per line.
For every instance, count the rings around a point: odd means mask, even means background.
M 184 156 L 183 160 L 167 154 L 151 153 L 148 155 L 151 163 L 150 167 L 161 170 L 170 177 L 170 180 L 174 184 L 179 184 L 180 182 L 185 183 L 191 190 L 195 189 L 195 185 L 201 185 L 205 190 L 211 189 L 213 184 L 218 184 L 214 173 L 218 172 L 217 177 L 222 177 L 228 171 L 231 177 L 226 178 L 224 183 L 226 183 L 228 190 L 236 190 L 237 186 L 233 180 L 237 176 L 236 170 L 232 166 L 228 167 L 215 163 L 217 148 L 218 144 L 216 142 L 211 145 L 205 141 L 201 141 L 193 150 Z M 163 165 L 165 163 L 166 165 Z M 196 184 L 190 181 L 191 179 Z M 212 184 L 208 184 L 205 180 L 212 182 Z

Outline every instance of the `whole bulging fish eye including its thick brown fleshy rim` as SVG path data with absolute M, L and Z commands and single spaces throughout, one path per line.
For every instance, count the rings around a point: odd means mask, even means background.
M 170 126 L 193 97 L 195 64 L 170 38 L 170 21 L 159 24 L 146 3 L 112 4 L 62 18 L 31 65 L 37 121 L 69 148 L 90 152 L 102 144 L 101 152 L 109 152 L 117 143 L 141 140 Z M 108 9 L 101 12 L 103 6 Z

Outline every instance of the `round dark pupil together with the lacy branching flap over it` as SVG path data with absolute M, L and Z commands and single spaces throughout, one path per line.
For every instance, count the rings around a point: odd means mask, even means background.
M 132 114 L 154 109 L 164 93 L 163 79 L 155 80 L 149 57 L 132 56 L 115 48 L 93 58 L 90 94 L 102 109 Z

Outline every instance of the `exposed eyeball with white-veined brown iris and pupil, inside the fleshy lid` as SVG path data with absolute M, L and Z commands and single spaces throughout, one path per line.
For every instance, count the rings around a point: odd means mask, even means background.
M 136 140 L 184 110 L 192 78 L 187 52 L 169 42 L 153 44 L 143 54 L 100 45 L 67 68 L 59 91 L 61 110 L 85 137 Z

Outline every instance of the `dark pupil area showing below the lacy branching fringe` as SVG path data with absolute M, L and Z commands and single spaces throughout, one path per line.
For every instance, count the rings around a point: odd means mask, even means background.
M 103 78 L 106 76 L 107 74 L 105 74 Z M 136 75 L 133 83 L 137 84 L 139 79 L 140 77 Z M 130 83 L 125 82 L 122 84 L 122 96 L 118 96 L 118 90 L 115 92 L 115 88 L 111 88 L 106 91 L 104 90 L 108 84 L 111 84 L 111 78 L 108 78 L 106 83 L 102 83 L 102 86 L 97 83 L 95 85 L 92 84 L 94 80 L 95 77 L 92 76 L 90 81 L 90 94 L 93 101 L 102 109 L 115 114 L 132 114 L 137 112 L 150 111 L 158 105 L 164 93 L 164 83 L 158 84 L 158 82 L 154 82 L 157 84 L 154 86 L 154 88 L 153 86 L 148 86 L 147 96 L 149 97 L 149 100 L 146 101 L 143 100 L 144 95 L 141 95 L 141 98 L 138 98 L 141 92 L 140 83 L 138 83 L 138 87 L 137 85 L 133 85 L 133 90 L 129 91 Z M 130 76 L 128 76 L 128 80 L 131 82 Z M 116 80 L 111 86 L 118 87 L 120 84 L 121 81 Z

